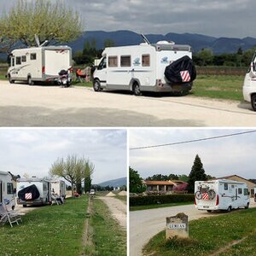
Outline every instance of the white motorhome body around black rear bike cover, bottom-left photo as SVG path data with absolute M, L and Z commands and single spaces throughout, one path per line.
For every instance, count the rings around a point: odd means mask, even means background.
M 39 197 L 35 200 L 22 201 L 18 197 L 18 193 L 21 189 L 28 186 L 35 185 L 39 191 Z M 44 178 L 31 177 L 31 178 L 19 178 L 17 179 L 17 204 L 18 205 L 46 205 L 51 202 L 51 186 L 50 182 Z

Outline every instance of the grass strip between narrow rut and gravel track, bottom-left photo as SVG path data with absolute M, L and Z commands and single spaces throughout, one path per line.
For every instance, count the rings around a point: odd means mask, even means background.
M 93 213 L 90 218 L 94 249 L 86 252 L 93 256 L 126 256 L 126 232 L 120 229 L 116 220 L 111 217 L 107 205 L 94 199 Z

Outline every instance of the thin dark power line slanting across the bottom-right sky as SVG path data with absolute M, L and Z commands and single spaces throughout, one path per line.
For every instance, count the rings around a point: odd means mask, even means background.
M 253 132 L 256 132 L 256 130 L 253 130 L 253 131 L 242 131 L 242 132 L 237 132 L 237 133 L 220 135 L 220 136 L 216 136 L 216 137 L 205 137 L 205 138 L 201 138 L 201 139 L 183 141 L 183 142 L 179 142 L 179 143 L 166 143 L 166 144 L 159 144 L 159 145 L 151 145 L 151 146 L 130 148 L 130 150 L 138 150 L 138 149 L 145 149 L 145 148 L 160 148 L 160 147 L 173 146 L 173 145 L 179 145 L 179 144 L 185 144 L 185 143 L 197 143 L 197 142 L 202 142 L 202 141 L 219 139 L 219 138 L 223 138 L 223 137 L 239 136 L 239 135 L 244 135 L 244 134 L 253 133 Z

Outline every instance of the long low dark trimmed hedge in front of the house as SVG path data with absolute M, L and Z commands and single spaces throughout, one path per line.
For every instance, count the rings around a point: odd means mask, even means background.
M 130 207 L 195 201 L 194 194 L 139 195 L 130 197 Z

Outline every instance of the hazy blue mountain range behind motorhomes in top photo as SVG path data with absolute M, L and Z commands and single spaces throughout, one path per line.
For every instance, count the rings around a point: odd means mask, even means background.
M 161 34 L 146 34 L 145 35 L 151 44 L 158 41 L 174 41 L 176 44 L 189 44 L 194 52 L 201 49 L 212 49 L 214 54 L 236 53 L 237 49 L 242 50 L 251 49 L 256 46 L 256 38 L 214 38 L 201 34 L 194 33 L 172 33 L 166 35 Z M 88 31 L 83 32 L 82 35 L 73 43 L 69 44 L 73 48 L 73 52 L 82 50 L 85 42 L 92 42 L 96 40 L 96 49 L 103 49 L 104 42 L 111 39 L 115 46 L 134 45 L 143 43 L 143 38 L 140 34 L 131 31 Z

